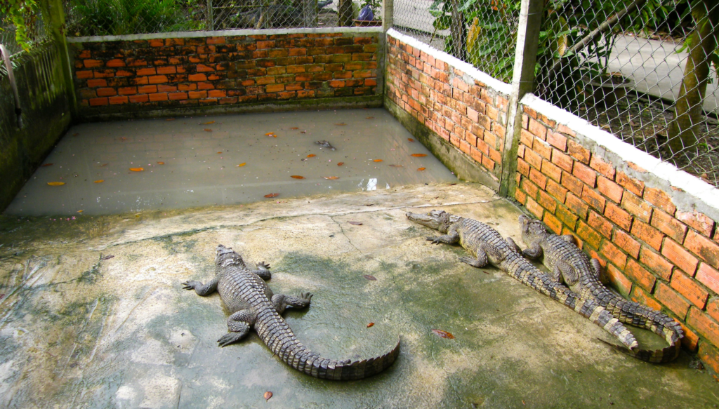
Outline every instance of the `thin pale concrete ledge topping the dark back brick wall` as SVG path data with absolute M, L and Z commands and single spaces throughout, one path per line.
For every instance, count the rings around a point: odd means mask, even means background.
M 157 38 L 198 38 L 225 37 L 234 35 L 283 35 L 283 34 L 328 34 L 328 33 L 383 32 L 382 27 L 328 27 L 310 29 L 228 29 L 218 31 L 157 32 L 131 35 L 93 35 L 89 37 L 68 37 L 68 42 L 104 42 L 124 40 L 154 40 Z

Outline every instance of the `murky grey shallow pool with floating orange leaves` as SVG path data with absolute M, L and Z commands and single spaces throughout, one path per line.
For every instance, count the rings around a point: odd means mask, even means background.
M 70 128 L 5 213 L 124 213 L 454 180 L 384 109 L 112 121 Z

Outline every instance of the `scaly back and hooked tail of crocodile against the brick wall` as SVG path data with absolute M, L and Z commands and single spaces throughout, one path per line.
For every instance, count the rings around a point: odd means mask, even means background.
M 658 334 L 667 341 L 669 346 L 664 349 L 647 350 L 637 349 L 628 351 L 618 347 L 621 351 L 633 357 L 647 362 L 669 362 L 676 359 L 681 347 L 680 340 L 684 336 L 682 326 L 664 313 L 656 311 L 645 305 L 625 300 L 612 293 L 598 280 L 592 263 L 587 254 L 577 246 L 557 236 L 557 234 L 546 233 L 541 237 L 539 244 L 544 253 L 542 262 L 549 270 L 554 270 L 554 265 L 559 260 L 567 262 L 574 268 L 579 276 L 576 284 L 570 285 L 574 292 L 582 298 L 595 300 L 619 321 L 639 328 L 645 328 Z

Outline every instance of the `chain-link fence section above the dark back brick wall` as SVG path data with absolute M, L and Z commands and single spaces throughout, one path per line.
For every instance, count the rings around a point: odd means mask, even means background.
M 333 0 L 65 0 L 68 35 L 335 27 Z

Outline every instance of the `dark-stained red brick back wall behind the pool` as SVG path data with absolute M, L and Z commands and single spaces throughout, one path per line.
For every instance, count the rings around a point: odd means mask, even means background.
M 381 94 L 381 32 L 300 31 L 75 39 L 71 52 L 81 114 Z

